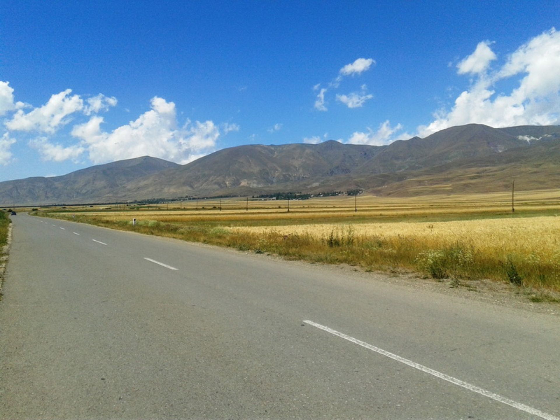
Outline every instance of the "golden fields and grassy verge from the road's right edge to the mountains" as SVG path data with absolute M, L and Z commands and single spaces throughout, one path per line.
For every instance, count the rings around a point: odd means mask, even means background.
M 315 198 L 291 202 L 290 212 L 286 202 L 240 199 L 40 212 L 286 259 L 417 272 L 451 284 L 491 279 L 530 291 L 535 302 L 560 301 L 558 193 L 519 195 L 514 213 L 508 194 Z

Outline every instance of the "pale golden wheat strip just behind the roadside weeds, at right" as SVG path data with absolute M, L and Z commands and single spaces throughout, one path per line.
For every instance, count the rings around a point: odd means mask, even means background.
M 527 259 L 557 260 L 560 263 L 560 217 L 498 218 L 449 222 L 391 222 L 354 224 L 310 224 L 290 226 L 240 226 L 236 232 L 263 235 L 309 235 L 328 240 L 353 236 L 358 242 L 371 239 L 407 239 L 426 249 L 464 245 L 486 255 L 519 255 Z

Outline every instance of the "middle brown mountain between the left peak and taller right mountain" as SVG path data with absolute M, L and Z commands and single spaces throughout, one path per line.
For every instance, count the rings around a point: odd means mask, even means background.
M 374 146 L 335 141 L 231 147 L 129 183 L 122 194 L 132 199 L 289 189 L 314 179 L 328 180 L 335 175 L 350 174 L 379 150 Z

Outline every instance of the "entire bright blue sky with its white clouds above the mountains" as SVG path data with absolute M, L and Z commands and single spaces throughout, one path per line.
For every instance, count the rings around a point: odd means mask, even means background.
M 0 2 L 0 181 L 560 124 L 560 2 Z

